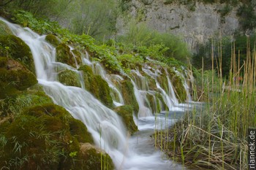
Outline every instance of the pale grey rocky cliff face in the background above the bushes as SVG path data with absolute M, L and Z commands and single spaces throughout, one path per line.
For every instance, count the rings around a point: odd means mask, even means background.
M 229 7 L 227 4 L 203 4 L 195 1 L 188 4 L 167 0 L 127 2 L 127 12 L 131 18 L 146 21 L 148 26 L 158 31 L 183 36 L 194 51 L 199 43 L 206 42 L 212 36 L 232 35 L 239 28 L 237 9 L 238 7 Z M 127 23 L 129 22 L 124 17 L 118 18 L 118 34 L 124 34 Z

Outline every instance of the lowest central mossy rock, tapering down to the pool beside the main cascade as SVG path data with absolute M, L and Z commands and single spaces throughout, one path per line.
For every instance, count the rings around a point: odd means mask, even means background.
M 138 127 L 137 125 L 135 125 L 135 122 L 133 120 L 133 110 L 131 106 L 124 105 L 121 107 L 116 107 L 114 111 L 122 117 L 124 124 L 127 126 L 130 134 L 134 134 L 136 131 L 138 131 Z

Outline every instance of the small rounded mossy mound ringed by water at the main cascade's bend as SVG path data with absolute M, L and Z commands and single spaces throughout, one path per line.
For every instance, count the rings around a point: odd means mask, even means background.
M 59 82 L 63 83 L 64 85 L 76 86 L 81 87 L 79 75 L 76 72 L 71 70 L 64 70 L 58 74 Z

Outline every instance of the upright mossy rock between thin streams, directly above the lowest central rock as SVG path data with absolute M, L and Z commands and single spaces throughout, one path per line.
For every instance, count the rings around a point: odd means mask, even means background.
M 135 98 L 132 82 L 123 80 L 121 82 L 121 93 L 123 94 L 124 104 L 132 106 L 132 109 L 135 111 L 135 113 L 138 113 L 139 105 Z

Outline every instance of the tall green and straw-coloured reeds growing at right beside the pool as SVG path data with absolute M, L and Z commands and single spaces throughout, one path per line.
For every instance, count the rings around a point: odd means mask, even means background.
M 155 138 L 167 156 L 190 169 L 248 168 L 247 131 L 256 125 L 256 50 L 249 49 L 247 39 L 246 61 L 241 63 L 234 44 L 227 79 L 222 77 L 221 48 L 219 52 L 212 57 L 210 74 L 202 70 L 197 86 L 206 103 L 171 128 L 157 131 L 162 139 Z

